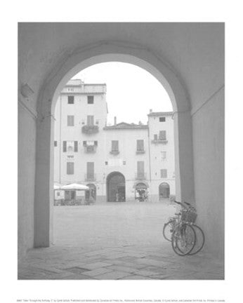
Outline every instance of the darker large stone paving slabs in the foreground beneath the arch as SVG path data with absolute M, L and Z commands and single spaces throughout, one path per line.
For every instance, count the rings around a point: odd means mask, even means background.
M 105 248 L 53 246 L 30 250 L 19 264 L 19 279 L 191 280 L 223 279 L 220 260 L 211 255 L 180 257 L 171 244 Z

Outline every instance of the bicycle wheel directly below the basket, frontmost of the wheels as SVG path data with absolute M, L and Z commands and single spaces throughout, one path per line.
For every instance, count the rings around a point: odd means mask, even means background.
M 190 225 L 183 223 L 173 231 L 171 237 L 173 251 L 180 256 L 188 255 L 194 248 L 196 240 L 195 230 Z

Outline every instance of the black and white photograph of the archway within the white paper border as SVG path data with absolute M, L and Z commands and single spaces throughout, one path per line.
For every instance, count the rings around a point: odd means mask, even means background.
M 18 24 L 18 278 L 224 279 L 224 24 Z

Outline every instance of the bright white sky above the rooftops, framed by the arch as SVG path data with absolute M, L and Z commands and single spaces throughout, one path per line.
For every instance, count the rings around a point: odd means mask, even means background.
M 136 65 L 122 62 L 105 62 L 92 65 L 72 79 L 84 83 L 106 83 L 107 123 L 147 123 L 147 114 L 172 111 L 166 90 L 149 72 Z

